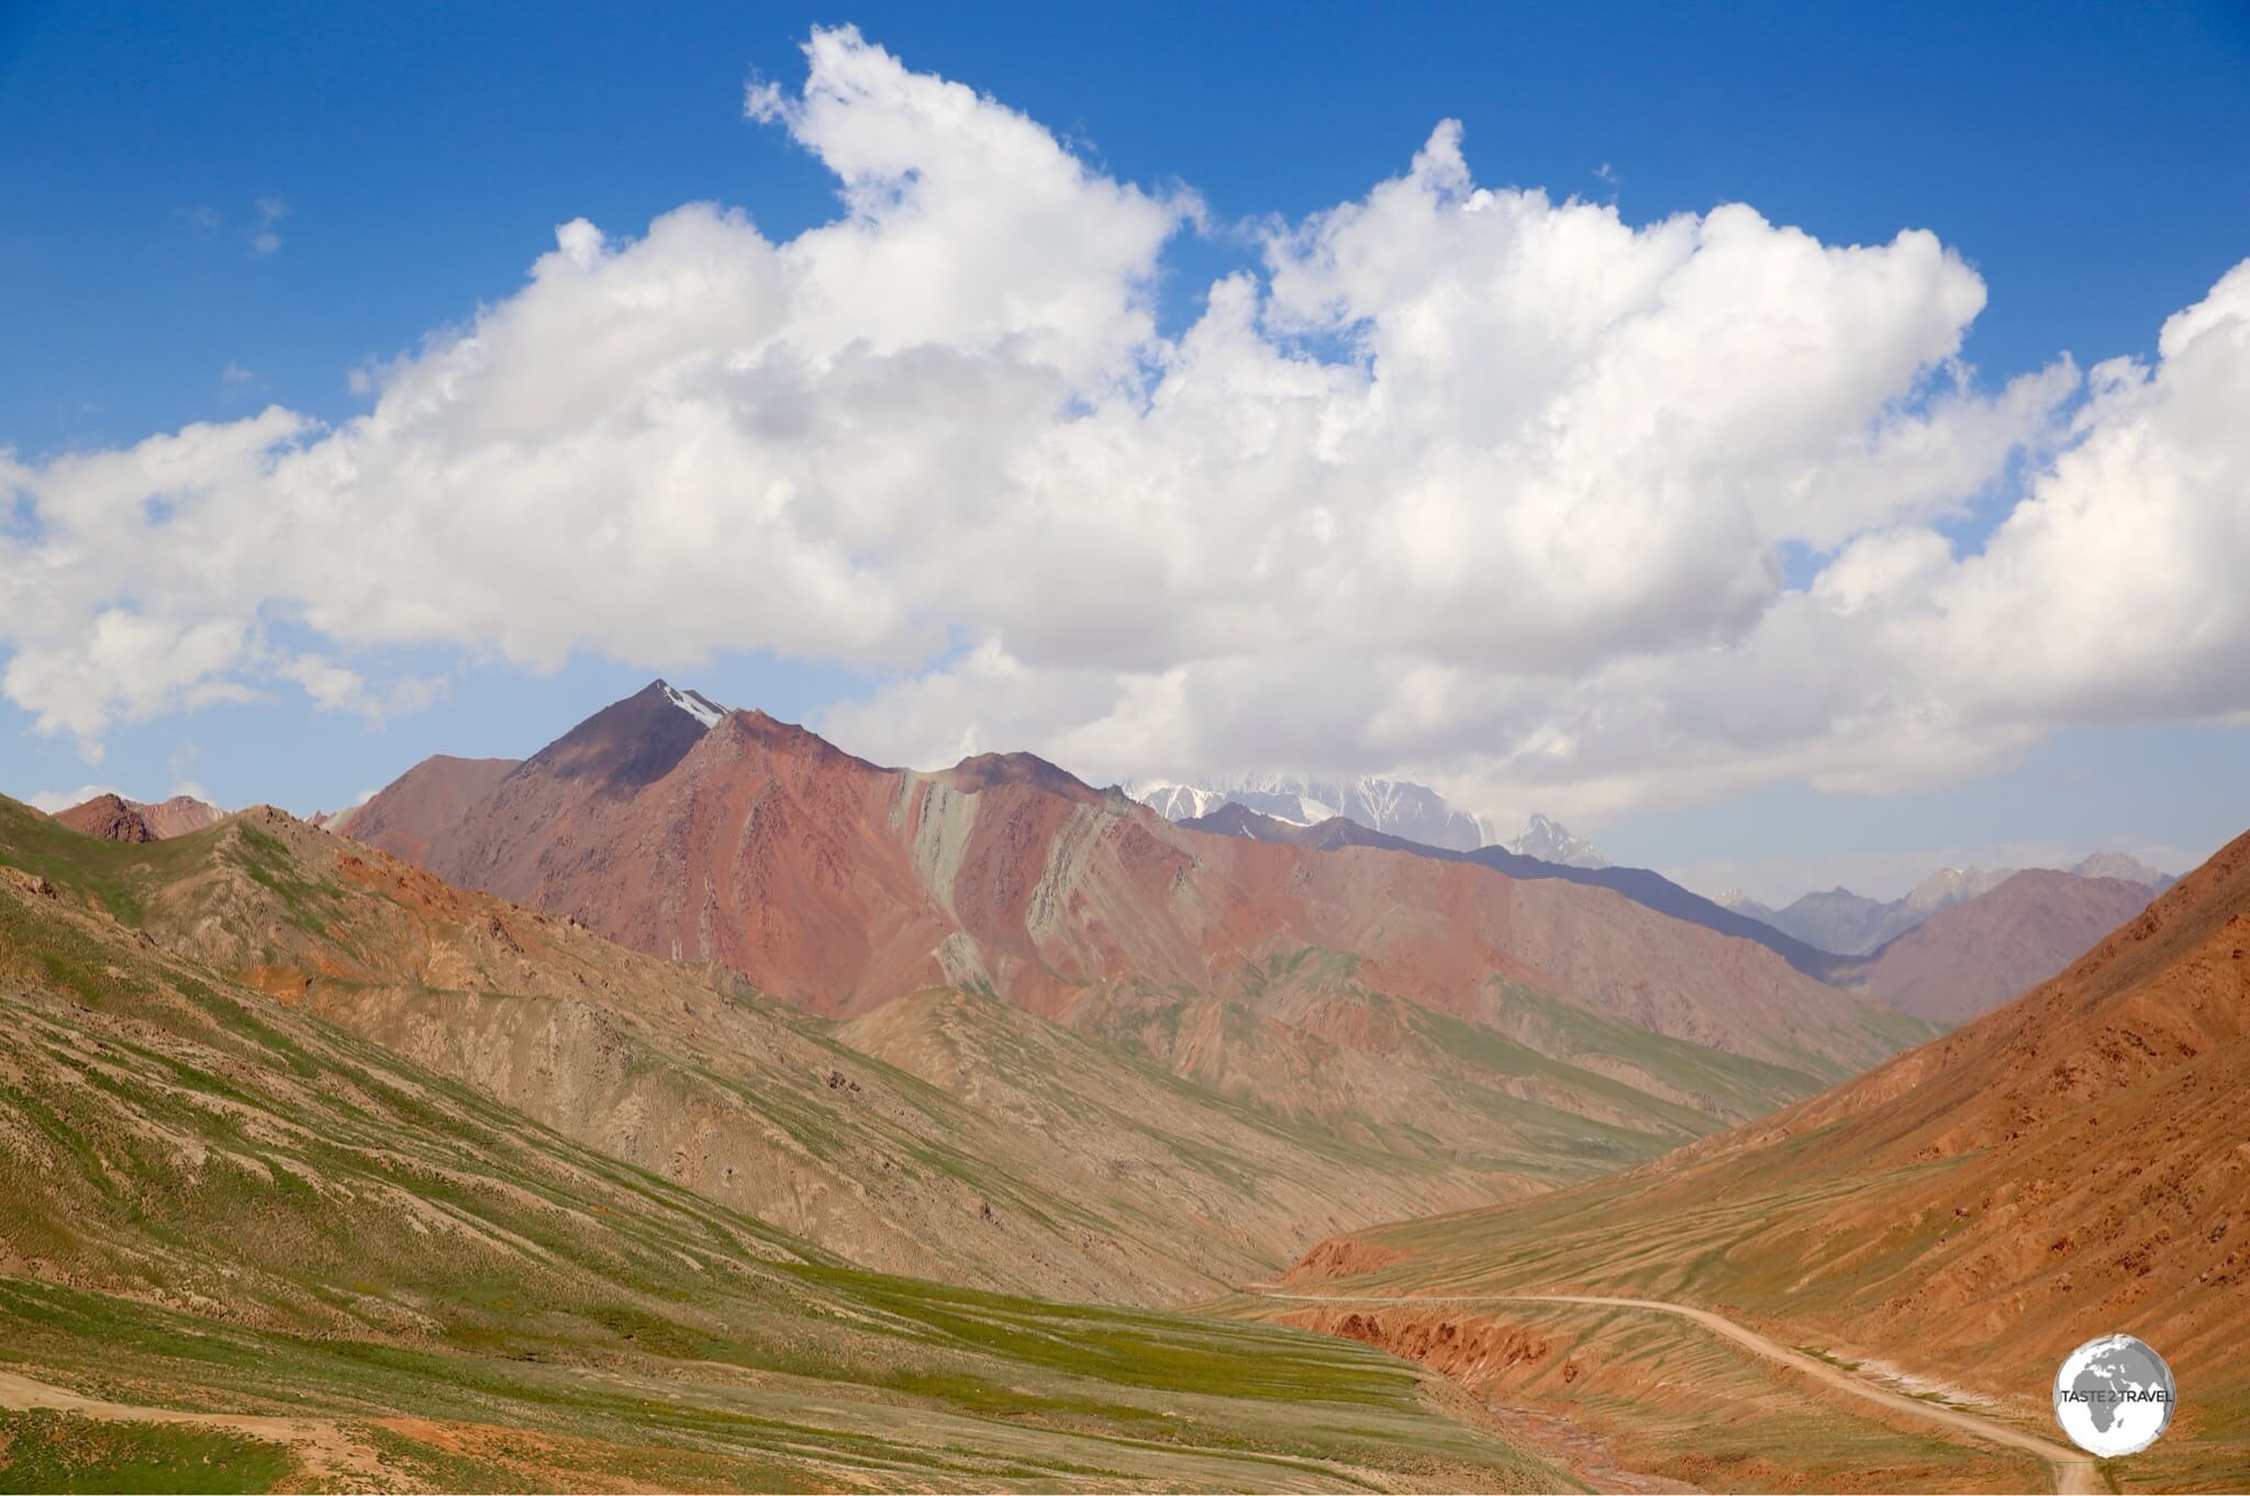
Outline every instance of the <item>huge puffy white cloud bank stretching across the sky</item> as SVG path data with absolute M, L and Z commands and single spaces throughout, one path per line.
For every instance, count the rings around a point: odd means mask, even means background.
M 572 220 L 356 371 L 344 425 L 0 454 L 0 691 L 97 751 L 284 684 L 410 709 L 387 646 L 776 650 L 884 673 L 824 713 L 878 758 L 1408 769 L 1562 814 L 2250 709 L 2250 268 L 2149 364 L 1994 389 L 1987 288 L 1928 232 L 1631 223 L 1478 187 L 1444 121 L 1161 335 L 1192 193 L 853 29 L 806 58 L 745 108 L 832 223 Z

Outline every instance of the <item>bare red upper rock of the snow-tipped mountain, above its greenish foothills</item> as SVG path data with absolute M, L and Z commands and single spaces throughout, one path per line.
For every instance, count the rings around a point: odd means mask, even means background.
M 1912 1042 L 1757 945 L 1604 889 L 1197 835 L 1024 754 L 884 769 L 756 711 L 706 727 L 677 697 L 657 682 L 590 718 L 425 864 L 830 1017 L 961 985 L 1107 1028 L 1120 1001 L 1321 947 L 1357 956 L 1366 988 L 1458 1017 L 1519 983 L 1809 1078 Z

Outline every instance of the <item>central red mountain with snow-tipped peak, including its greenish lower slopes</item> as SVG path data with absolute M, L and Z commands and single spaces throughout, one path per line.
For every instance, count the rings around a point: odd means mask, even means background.
M 468 805 L 459 760 L 421 765 L 346 832 L 727 967 L 940 1089 L 992 1093 L 974 1051 L 1030 1044 L 994 1033 L 1024 1012 L 1040 1044 L 1462 1201 L 1660 1152 L 1928 1033 L 1602 889 L 1213 837 L 1022 754 L 884 769 L 677 695 L 612 704 Z

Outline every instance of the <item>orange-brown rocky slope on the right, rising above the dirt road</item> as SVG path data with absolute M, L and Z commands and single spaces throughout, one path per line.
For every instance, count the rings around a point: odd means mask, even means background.
M 2072 1345 L 2126 1325 L 2198 1390 L 2113 1478 L 2228 1485 L 2250 1469 L 2246 1089 L 2250 835 L 1935 1044 L 1611 1179 L 1328 1242 L 1300 1278 L 1714 1307 L 2023 1417 L 2048 1417 Z

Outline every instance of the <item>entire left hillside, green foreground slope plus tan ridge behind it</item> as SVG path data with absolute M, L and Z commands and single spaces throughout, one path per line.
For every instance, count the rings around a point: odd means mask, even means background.
M 277 810 L 151 844 L 0 799 L 0 1078 L 9 1489 L 1559 1480 L 1366 1348 L 961 1287 L 1305 1190 L 1226 1109 L 1044 1141 Z

